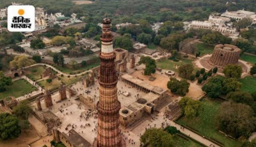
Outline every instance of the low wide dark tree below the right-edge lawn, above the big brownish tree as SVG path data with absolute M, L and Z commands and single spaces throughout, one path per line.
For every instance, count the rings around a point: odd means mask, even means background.
M 226 96 L 227 99 L 231 99 L 235 103 L 243 103 L 247 105 L 251 105 L 254 101 L 251 94 L 245 91 L 234 91 Z

